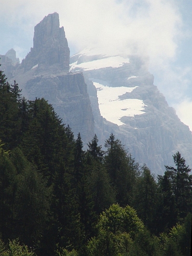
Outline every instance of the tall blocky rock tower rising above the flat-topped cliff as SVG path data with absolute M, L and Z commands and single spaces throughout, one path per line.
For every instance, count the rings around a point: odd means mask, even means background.
M 34 29 L 33 48 L 22 61 L 25 71 L 34 66 L 57 66 L 68 72 L 70 64 L 70 49 L 63 26 L 60 28 L 57 12 L 49 14 L 40 21 Z

